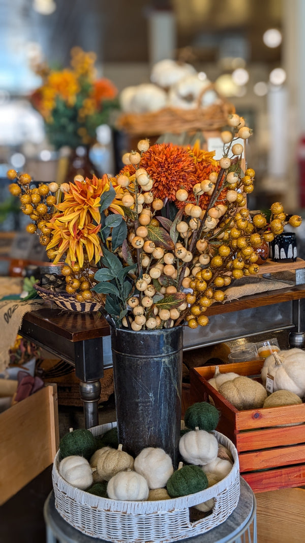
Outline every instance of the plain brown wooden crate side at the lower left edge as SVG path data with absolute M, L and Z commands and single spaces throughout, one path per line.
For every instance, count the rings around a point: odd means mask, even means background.
M 0 505 L 53 463 L 59 443 L 56 385 L 0 414 Z

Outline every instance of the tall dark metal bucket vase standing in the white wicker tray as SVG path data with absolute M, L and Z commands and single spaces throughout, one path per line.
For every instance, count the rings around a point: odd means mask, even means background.
M 111 328 L 119 443 L 136 456 L 160 447 L 176 467 L 181 424 L 183 326 Z

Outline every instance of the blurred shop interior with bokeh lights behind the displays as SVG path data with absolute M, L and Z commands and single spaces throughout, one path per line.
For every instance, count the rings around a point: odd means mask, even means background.
M 304 25 L 302 0 L 2 0 L 0 232 L 23 230 L 30 220 L 8 191 L 8 169 L 55 181 L 69 154 L 65 145 L 50 142 L 31 96 L 41 85 L 33 63 L 68 66 L 73 47 L 96 54 L 98 77 L 112 81 L 118 96 L 125 87 L 153 83 L 158 61 L 192 65 L 253 129 L 246 148 L 256 171 L 250 209 L 279 200 L 303 215 Z M 119 109 L 112 113 L 90 148 L 99 174 L 116 174 L 130 149 L 128 134 L 116 127 Z M 302 226 L 298 236 L 304 237 Z

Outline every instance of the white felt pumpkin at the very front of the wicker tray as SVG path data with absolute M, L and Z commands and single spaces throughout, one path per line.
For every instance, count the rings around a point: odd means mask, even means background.
M 119 471 L 107 484 L 107 494 L 112 500 L 147 500 L 149 488 L 145 477 L 136 471 Z

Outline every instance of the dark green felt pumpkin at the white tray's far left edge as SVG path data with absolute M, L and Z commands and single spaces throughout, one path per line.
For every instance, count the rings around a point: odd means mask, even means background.
M 87 460 L 96 451 L 96 440 L 92 433 L 84 428 L 73 430 L 63 435 L 59 442 L 60 456 L 84 456 Z

